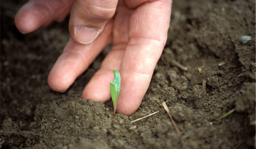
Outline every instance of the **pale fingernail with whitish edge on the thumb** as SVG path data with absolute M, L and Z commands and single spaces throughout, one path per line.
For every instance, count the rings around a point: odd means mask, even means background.
M 95 29 L 85 26 L 75 26 L 74 30 L 77 40 L 82 44 L 91 43 L 102 31 L 101 29 Z

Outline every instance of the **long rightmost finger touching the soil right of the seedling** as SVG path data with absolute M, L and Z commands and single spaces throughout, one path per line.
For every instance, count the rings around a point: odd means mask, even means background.
M 144 3 L 132 13 L 117 112 L 131 115 L 139 108 L 166 43 L 170 14 L 171 0 Z

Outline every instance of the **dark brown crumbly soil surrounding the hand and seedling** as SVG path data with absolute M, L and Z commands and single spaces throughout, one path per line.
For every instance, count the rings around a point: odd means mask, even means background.
M 112 101 L 81 99 L 110 46 L 65 93 L 52 91 L 47 75 L 69 38 L 68 18 L 23 35 L 13 20 L 24 3 L 1 1 L 2 149 L 255 148 L 254 0 L 175 0 L 168 41 L 140 108 L 115 118 Z M 245 35 L 252 39 L 242 44 Z

